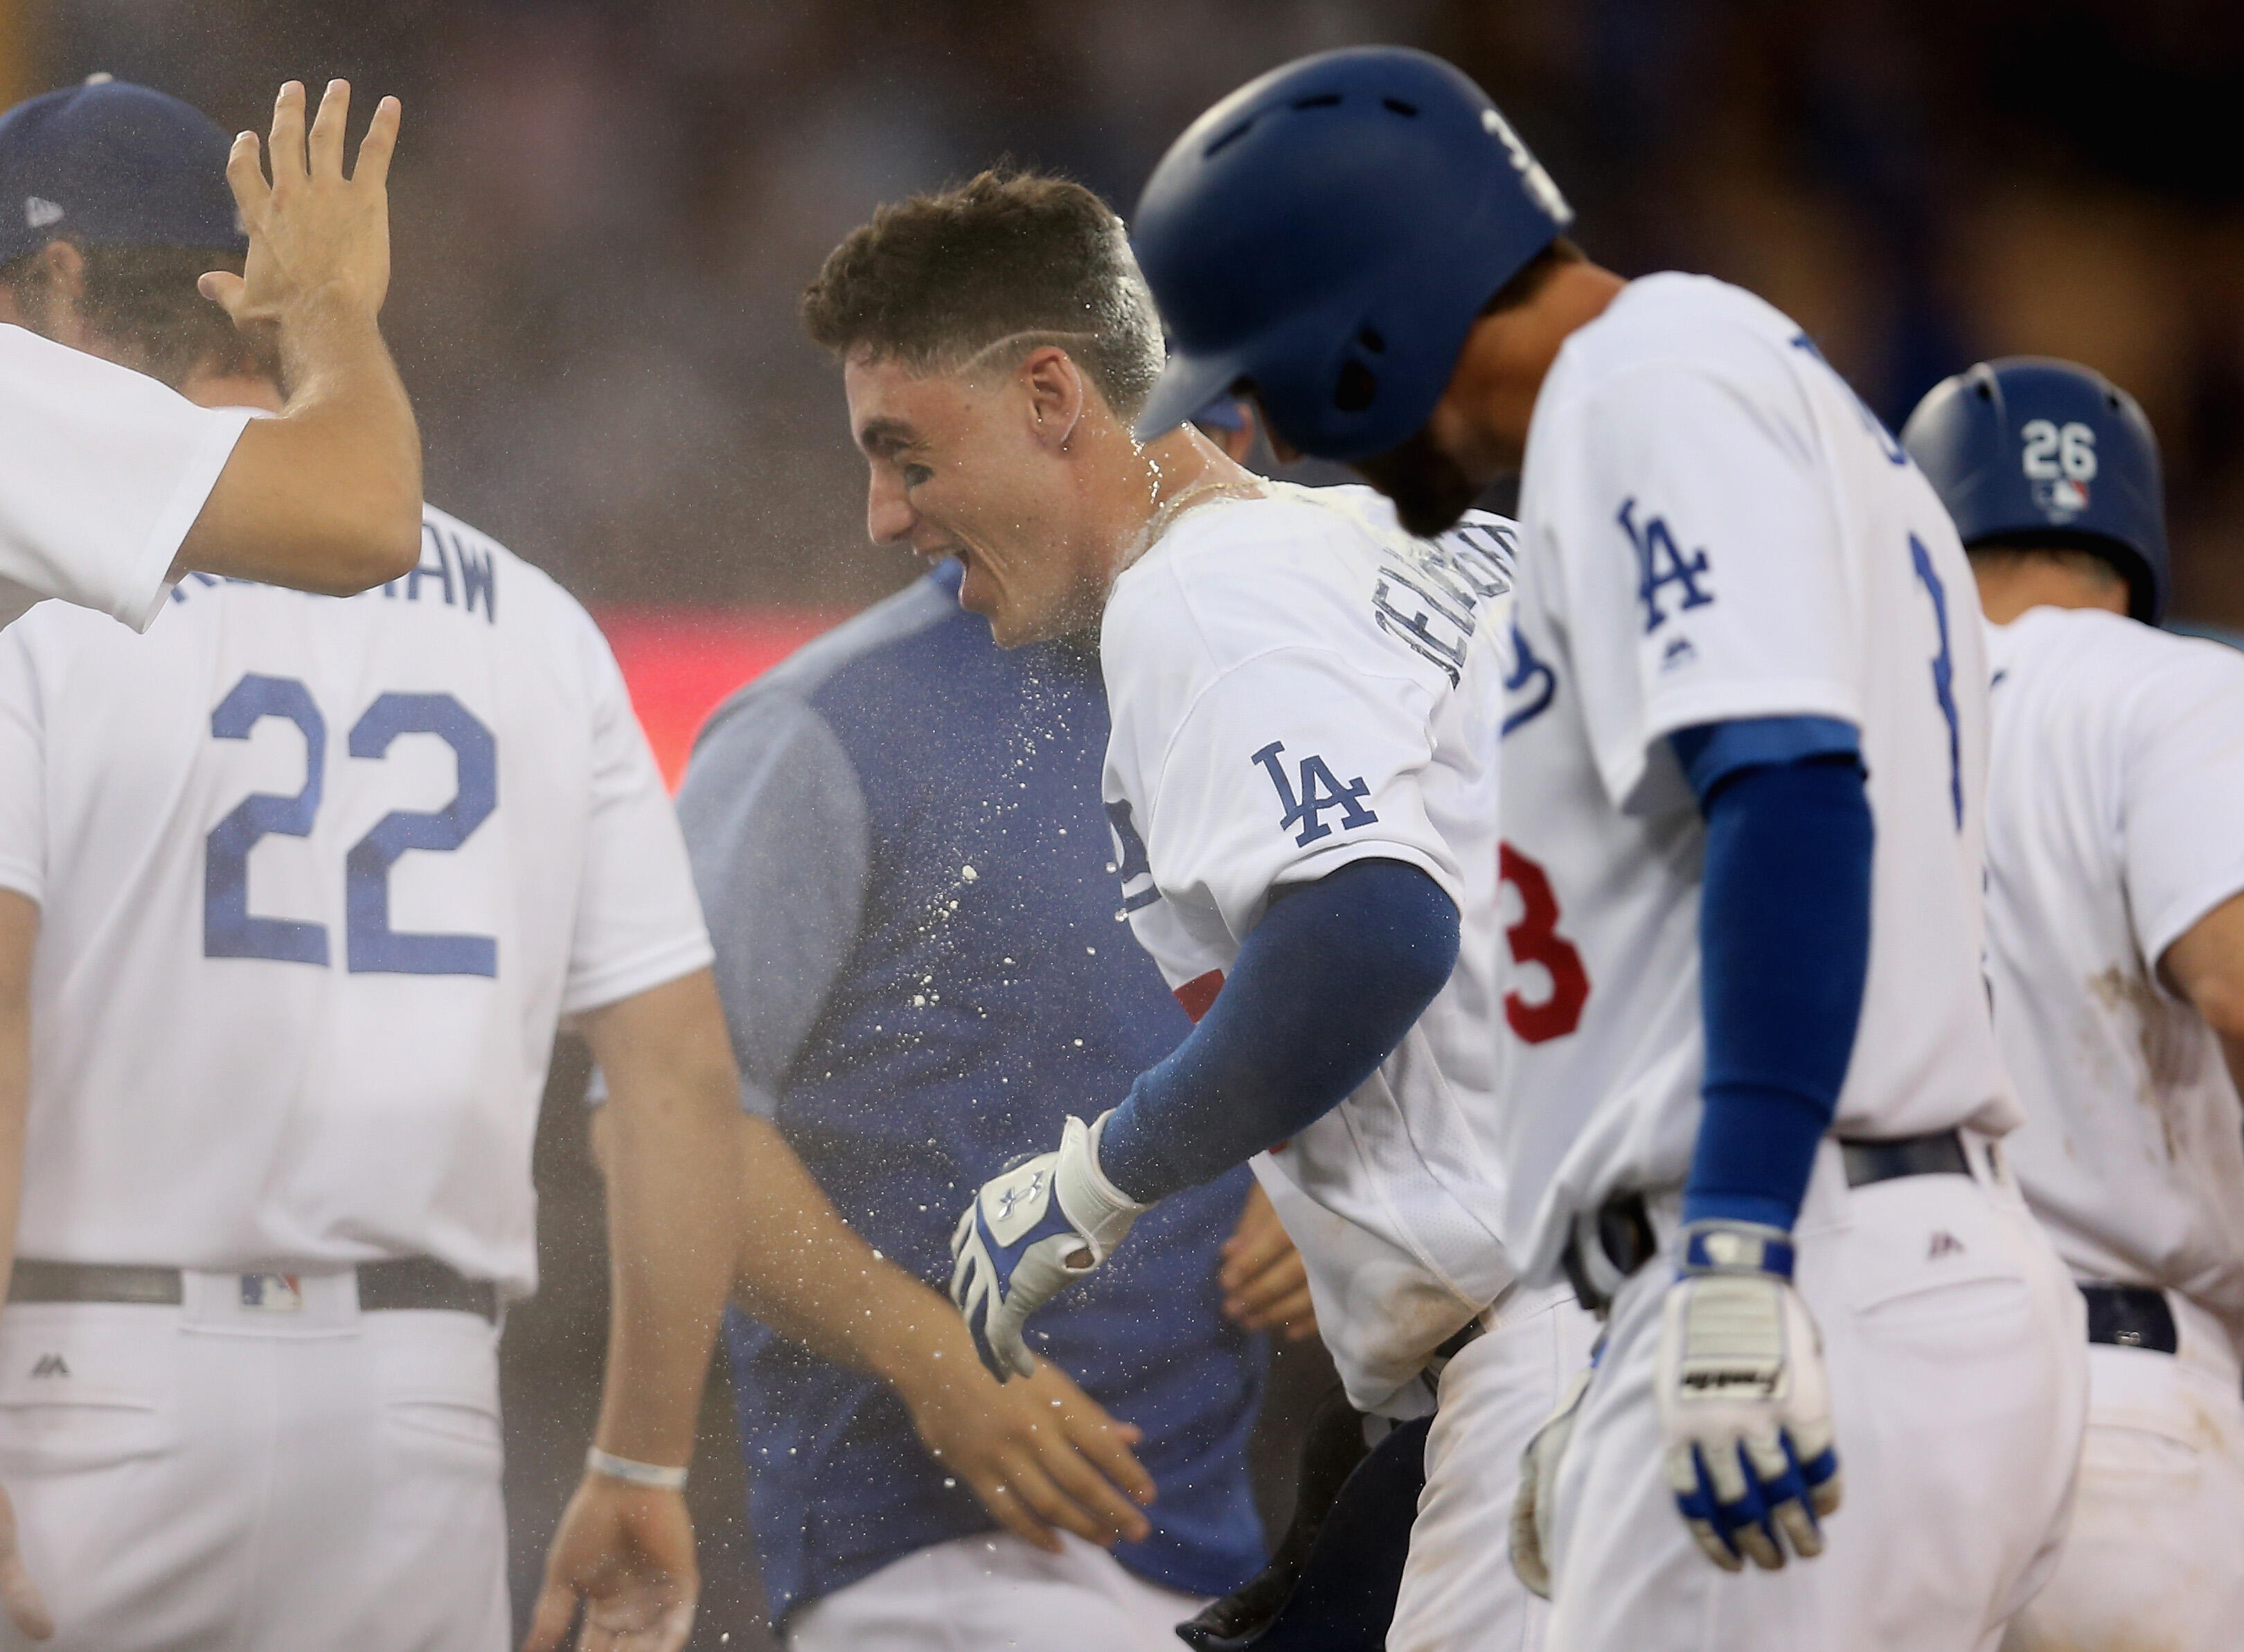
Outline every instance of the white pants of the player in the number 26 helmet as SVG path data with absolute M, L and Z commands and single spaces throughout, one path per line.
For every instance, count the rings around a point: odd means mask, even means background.
M 2226 1327 L 2177 1293 L 2174 1353 L 2089 1344 L 2089 1432 L 2058 1569 L 2004 1652 L 2244 1641 L 2244 1394 Z

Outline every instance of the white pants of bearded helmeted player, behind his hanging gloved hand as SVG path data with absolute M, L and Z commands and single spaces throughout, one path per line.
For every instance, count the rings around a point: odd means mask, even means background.
M 1970 1176 L 1849 1187 L 1824 1142 L 1795 1228 L 1845 1502 L 1782 1571 L 1714 1567 L 1661 1461 L 1661 1252 L 1616 1297 L 1557 1470 L 1551 1652 L 1995 1652 L 2064 1538 L 2087 1412 L 2085 1309 L 1986 1142 Z M 1490 1533 L 1501 1542 L 1501 1533 Z

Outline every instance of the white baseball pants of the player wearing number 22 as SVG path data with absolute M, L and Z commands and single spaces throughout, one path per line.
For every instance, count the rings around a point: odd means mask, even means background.
M 233 1273 L 182 1295 L 0 1313 L 0 1486 L 43 1645 L 505 1652 L 496 1329 L 361 1315 L 348 1273 L 301 1275 L 289 1311 Z

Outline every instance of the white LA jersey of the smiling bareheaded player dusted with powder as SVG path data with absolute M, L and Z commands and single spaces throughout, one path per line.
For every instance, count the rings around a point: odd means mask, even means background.
M 1403 1046 L 1254 1160 L 1360 1410 L 1409 1405 L 1512 1277 L 1481 1138 L 1510 545 L 1492 516 L 1427 543 L 1369 489 L 1272 483 L 1180 516 L 1115 581 L 1100 640 L 1122 905 L 1187 1012 L 1279 884 L 1398 860 L 1456 902 L 1456 972 Z

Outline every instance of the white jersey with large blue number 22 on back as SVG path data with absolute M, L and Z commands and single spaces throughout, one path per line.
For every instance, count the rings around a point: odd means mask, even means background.
M 0 887 L 43 909 L 18 1255 L 431 1255 L 534 1286 L 561 1015 L 709 961 L 583 608 L 429 512 L 350 599 L 188 577 L 0 633 Z

